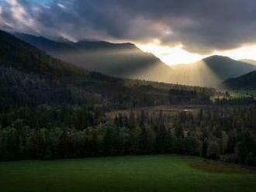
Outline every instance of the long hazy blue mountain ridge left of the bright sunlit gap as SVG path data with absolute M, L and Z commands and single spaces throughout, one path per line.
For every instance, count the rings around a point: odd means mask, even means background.
M 171 67 L 153 54 L 144 53 L 132 43 L 90 40 L 74 43 L 20 33 L 16 36 L 51 56 L 114 77 L 170 82 L 173 74 Z

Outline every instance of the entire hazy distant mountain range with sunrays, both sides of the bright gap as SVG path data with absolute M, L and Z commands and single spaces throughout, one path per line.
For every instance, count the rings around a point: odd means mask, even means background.
M 27 34 L 16 36 L 51 56 L 114 77 L 217 87 L 228 78 L 256 70 L 254 64 L 221 56 L 169 67 L 153 54 L 144 53 L 132 43 L 89 40 L 74 43 L 67 39 L 54 41 Z

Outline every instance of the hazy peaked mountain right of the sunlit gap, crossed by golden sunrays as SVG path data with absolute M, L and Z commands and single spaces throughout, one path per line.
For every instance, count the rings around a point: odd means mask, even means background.
M 181 84 L 197 84 L 216 87 L 230 77 L 239 77 L 256 70 L 256 66 L 229 57 L 212 56 L 191 64 L 180 64 L 172 67 L 176 81 Z

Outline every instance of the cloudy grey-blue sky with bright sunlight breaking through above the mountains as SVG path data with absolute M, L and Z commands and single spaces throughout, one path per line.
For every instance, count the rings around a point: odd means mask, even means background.
M 131 42 L 169 65 L 256 60 L 255 0 L 0 0 L 0 29 Z

